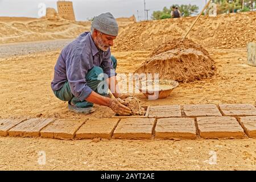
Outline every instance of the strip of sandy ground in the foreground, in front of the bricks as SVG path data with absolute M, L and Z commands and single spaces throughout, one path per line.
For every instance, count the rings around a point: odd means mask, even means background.
M 96 143 L 0 137 L 0 169 L 256 170 L 255 141 L 101 140 Z

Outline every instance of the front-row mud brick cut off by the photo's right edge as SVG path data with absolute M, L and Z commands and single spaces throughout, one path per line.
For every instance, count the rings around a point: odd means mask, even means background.
M 256 116 L 240 117 L 243 129 L 251 138 L 256 138 Z

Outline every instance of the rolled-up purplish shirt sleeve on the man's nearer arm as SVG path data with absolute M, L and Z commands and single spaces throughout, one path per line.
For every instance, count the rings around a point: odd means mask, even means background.
M 84 101 L 92 89 L 87 85 L 85 75 L 89 70 L 89 64 L 82 58 L 80 53 L 70 56 L 66 61 L 66 70 L 69 86 L 72 94 Z

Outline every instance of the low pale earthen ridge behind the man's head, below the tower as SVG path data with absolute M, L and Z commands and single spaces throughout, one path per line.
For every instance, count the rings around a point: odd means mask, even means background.
M 48 9 L 47 18 L 0 17 L 0 44 L 52 39 L 72 39 L 82 32 L 90 31 L 92 22 L 75 22 L 56 16 L 54 9 Z M 130 23 L 131 18 L 118 20 L 119 32 Z

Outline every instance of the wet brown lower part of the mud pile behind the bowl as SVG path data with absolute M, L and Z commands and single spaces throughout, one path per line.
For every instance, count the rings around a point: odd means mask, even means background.
M 214 61 L 195 48 L 176 48 L 145 61 L 135 73 L 159 73 L 160 79 L 189 82 L 214 75 Z

